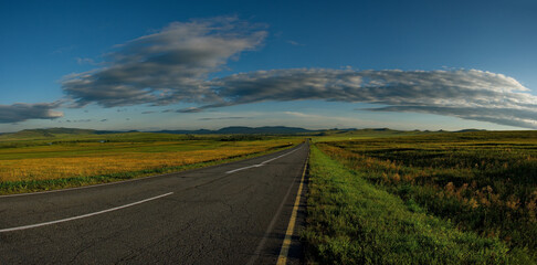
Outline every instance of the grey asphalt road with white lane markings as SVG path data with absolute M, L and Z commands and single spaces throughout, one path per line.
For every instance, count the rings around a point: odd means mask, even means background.
M 0 197 L 0 264 L 275 264 L 307 153 Z

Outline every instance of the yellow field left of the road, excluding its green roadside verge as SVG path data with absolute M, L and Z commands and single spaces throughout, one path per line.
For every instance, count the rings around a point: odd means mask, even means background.
M 298 140 L 76 144 L 0 149 L 0 182 L 91 177 L 222 160 Z

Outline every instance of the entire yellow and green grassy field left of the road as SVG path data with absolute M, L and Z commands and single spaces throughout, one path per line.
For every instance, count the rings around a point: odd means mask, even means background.
M 261 155 L 299 138 L 167 134 L 34 134 L 0 137 L 0 193 L 76 187 Z

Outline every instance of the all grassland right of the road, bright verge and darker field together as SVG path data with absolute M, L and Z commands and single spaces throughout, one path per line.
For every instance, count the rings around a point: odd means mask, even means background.
M 305 233 L 315 259 L 537 262 L 537 131 L 316 146 Z

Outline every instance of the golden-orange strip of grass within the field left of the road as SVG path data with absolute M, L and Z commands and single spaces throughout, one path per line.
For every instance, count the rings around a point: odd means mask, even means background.
M 203 161 L 221 160 L 261 152 L 270 146 L 215 148 L 212 150 L 155 153 L 103 153 L 99 156 L 30 158 L 0 161 L 0 181 L 43 180 L 97 176 L 117 172 L 169 168 Z

